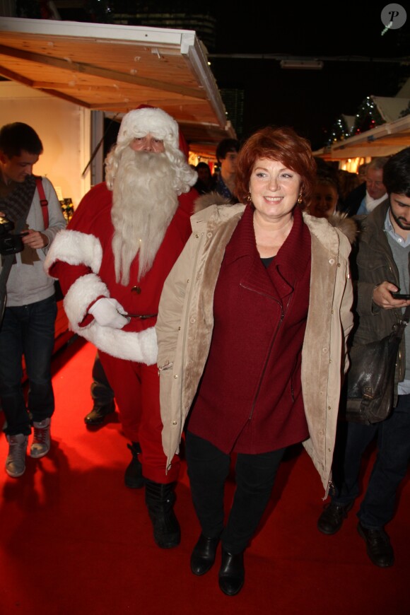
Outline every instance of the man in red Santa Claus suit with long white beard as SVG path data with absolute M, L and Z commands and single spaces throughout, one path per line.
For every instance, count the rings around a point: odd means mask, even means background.
M 61 283 L 71 329 L 98 348 L 131 440 L 127 479 L 145 485 L 154 539 L 163 549 L 180 543 L 173 510 L 180 459 L 175 455 L 166 468 L 154 326 L 198 197 L 197 173 L 179 144 L 177 122 L 163 110 L 124 115 L 106 181 L 83 197 L 45 262 Z

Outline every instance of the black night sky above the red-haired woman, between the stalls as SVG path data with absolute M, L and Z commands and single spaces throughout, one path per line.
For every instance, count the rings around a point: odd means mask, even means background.
M 380 14 L 388 3 L 357 4 L 266 8 L 257 2 L 245 11 L 230 2 L 218 5 L 217 53 L 374 59 L 325 61 L 320 71 L 283 70 L 272 59 L 211 59 L 220 88 L 245 90 L 244 136 L 266 124 L 287 124 L 320 148 L 335 119 L 355 115 L 367 95 L 397 94 L 410 66 L 375 59 L 410 56 L 410 7 L 402 28 L 381 35 Z

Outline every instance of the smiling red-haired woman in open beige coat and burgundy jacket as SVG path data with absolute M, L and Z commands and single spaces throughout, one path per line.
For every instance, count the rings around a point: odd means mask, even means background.
M 163 446 L 170 462 L 189 414 L 185 452 L 201 525 L 191 569 L 208 572 L 221 541 L 227 595 L 243 585 L 243 552 L 286 447 L 303 442 L 329 489 L 353 323 L 351 245 L 326 219 L 301 211 L 315 170 L 309 144 L 292 129 L 251 136 L 238 156 L 242 203 L 192 216 L 160 300 Z M 232 453 L 236 489 L 224 525 Z

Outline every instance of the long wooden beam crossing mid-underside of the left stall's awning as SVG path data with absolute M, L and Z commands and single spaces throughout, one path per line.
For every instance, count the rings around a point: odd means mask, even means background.
M 164 90 L 165 92 L 174 92 L 185 96 L 191 96 L 192 98 L 206 98 L 206 93 L 200 88 L 187 88 L 185 86 L 179 86 L 176 83 L 165 83 L 165 81 L 158 81 L 156 79 L 150 79 L 138 75 L 127 75 L 124 73 L 119 73 L 118 71 L 103 69 L 100 66 L 93 66 L 92 64 L 84 64 L 82 62 L 71 62 L 52 56 L 23 51 L 23 49 L 15 49 L 15 47 L 0 45 L 0 54 L 8 57 L 37 62 L 38 64 L 44 64 L 45 66 L 54 66 L 54 68 L 63 69 L 66 71 L 102 77 L 114 81 L 122 81 L 123 83 L 131 83 L 134 86 L 145 86 L 156 90 Z

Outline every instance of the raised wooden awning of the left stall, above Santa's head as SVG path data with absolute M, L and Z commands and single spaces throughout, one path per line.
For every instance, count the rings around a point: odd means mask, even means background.
M 235 138 L 192 30 L 0 18 L 0 75 L 111 115 L 161 107 L 189 144 Z

